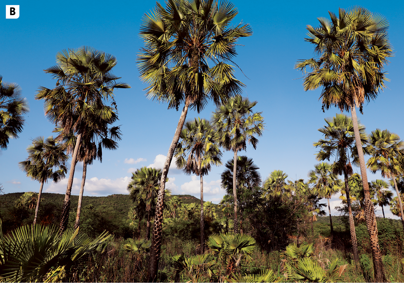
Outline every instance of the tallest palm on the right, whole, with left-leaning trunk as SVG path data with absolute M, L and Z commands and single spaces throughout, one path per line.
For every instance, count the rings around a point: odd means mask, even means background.
M 306 41 L 315 45 L 317 57 L 300 60 L 295 68 L 306 72 L 304 89 L 322 87 L 320 98 L 322 109 L 338 106 L 351 111 L 356 145 L 361 145 L 356 107 L 362 112 L 364 101 L 375 99 L 385 87 L 384 65 L 392 56 L 388 39 L 389 24 L 381 15 L 375 15 L 363 7 L 350 10 L 339 9 L 339 15 L 329 12 L 330 20 L 318 18 L 320 27 L 307 26 L 309 38 Z M 376 281 L 385 280 L 383 263 L 377 238 L 375 211 L 370 201 L 363 152 L 359 150 L 360 171 L 364 180 L 366 226 L 372 243 L 373 266 Z

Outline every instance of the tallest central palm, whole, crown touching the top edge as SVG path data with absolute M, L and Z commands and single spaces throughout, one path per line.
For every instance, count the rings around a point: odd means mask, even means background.
M 230 26 L 238 14 L 230 2 L 210 0 L 157 2 L 143 17 L 140 36 L 145 47 L 139 55 L 141 79 L 148 97 L 167 102 L 168 108 L 184 103 L 162 171 L 154 221 L 147 280 L 157 276 L 160 258 L 165 180 L 188 108 L 198 112 L 212 99 L 216 105 L 241 93 L 242 82 L 234 77 L 232 64 L 236 42 L 250 36 L 250 25 Z

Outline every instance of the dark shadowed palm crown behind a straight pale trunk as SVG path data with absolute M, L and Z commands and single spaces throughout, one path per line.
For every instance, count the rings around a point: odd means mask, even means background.
M 243 214 L 245 201 L 243 194 L 251 192 L 255 187 L 261 186 L 262 178 L 258 172 L 259 167 L 255 165 L 252 158 L 247 156 L 237 156 L 236 159 L 236 197 L 234 197 L 234 159 L 229 159 L 225 165 L 226 169 L 221 174 L 221 187 L 226 190 L 227 195 L 233 196 L 234 202 L 237 201 L 235 207 L 238 207 L 240 214 Z M 236 220 L 234 220 L 236 221 Z M 240 230 L 241 227 L 240 220 Z M 238 223 L 237 223 L 238 226 Z

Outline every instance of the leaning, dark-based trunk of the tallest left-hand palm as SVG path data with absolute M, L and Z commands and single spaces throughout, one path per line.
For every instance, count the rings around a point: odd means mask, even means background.
M 70 194 L 72 193 L 74 169 L 76 168 L 77 153 L 78 153 L 78 148 L 80 147 L 81 137 L 82 137 L 82 134 L 79 133 L 77 135 L 76 145 L 74 146 L 74 151 L 73 151 L 73 156 L 72 156 L 72 165 L 70 166 L 69 180 L 67 180 L 66 194 L 65 194 L 65 199 L 63 201 L 63 209 L 62 209 L 62 215 L 61 215 L 60 226 L 59 226 L 60 234 L 62 234 L 65 231 L 65 229 L 67 228 L 67 224 L 69 222 Z

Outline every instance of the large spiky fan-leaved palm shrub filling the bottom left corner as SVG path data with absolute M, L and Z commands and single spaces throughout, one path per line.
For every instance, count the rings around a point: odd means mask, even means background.
M 0 230 L 2 223 L 0 221 Z M 7 282 L 73 282 L 88 256 L 103 250 L 111 237 L 103 232 L 92 240 L 67 229 L 59 237 L 55 226 L 21 226 L 0 231 L 0 278 Z

